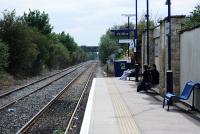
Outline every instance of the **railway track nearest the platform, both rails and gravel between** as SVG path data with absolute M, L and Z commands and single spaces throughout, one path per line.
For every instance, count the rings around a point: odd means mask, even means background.
M 92 78 L 94 65 L 81 76 L 75 77 L 62 91 L 59 92 L 40 112 L 38 112 L 17 134 L 69 133 L 73 128 L 75 114 L 85 96 Z M 77 89 L 77 86 L 78 87 Z M 75 93 L 74 90 L 77 90 Z M 71 99 L 70 99 L 71 98 Z M 75 100 L 73 98 L 76 98 Z

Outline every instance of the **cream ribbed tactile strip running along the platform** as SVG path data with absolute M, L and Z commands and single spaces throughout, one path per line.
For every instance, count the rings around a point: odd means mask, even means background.
M 140 134 L 130 111 L 124 100 L 120 96 L 116 83 L 112 79 L 107 79 L 108 91 L 111 96 L 115 116 L 122 134 Z

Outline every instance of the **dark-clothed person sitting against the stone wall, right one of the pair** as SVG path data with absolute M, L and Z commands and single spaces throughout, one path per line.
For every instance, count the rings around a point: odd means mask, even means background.
M 150 73 L 151 73 L 151 84 L 152 84 L 152 86 L 158 85 L 159 84 L 159 72 L 156 69 L 156 65 L 155 64 L 151 65 Z

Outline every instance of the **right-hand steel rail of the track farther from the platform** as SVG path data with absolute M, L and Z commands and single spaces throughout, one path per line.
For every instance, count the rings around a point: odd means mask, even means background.
M 10 101 L 9 103 L 7 103 L 7 104 L 1 106 L 1 107 L 0 107 L 0 111 L 3 110 L 4 108 L 6 108 L 6 107 L 8 107 L 8 106 L 10 106 L 10 105 L 12 105 L 12 104 L 14 104 L 14 103 L 16 103 L 17 101 L 21 100 L 22 98 L 27 97 L 27 96 L 29 96 L 29 95 L 31 95 L 31 94 L 33 94 L 33 93 L 35 93 L 35 92 L 37 92 L 37 91 L 43 89 L 43 88 L 49 86 L 49 85 L 52 84 L 53 82 L 55 82 L 55 81 L 57 81 L 57 80 L 59 80 L 59 79 L 65 77 L 66 75 L 72 73 L 73 71 L 77 70 L 78 68 L 80 68 L 80 67 L 82 67 L 82 66 L 83 66 L 83 65 L 78 66 L 77 68 L 73 69 L 72 71 L 70 71 L 70 72 L 68 72 L 68 73 L 66 73 L 66 74 L 64 74 L 64 75 L 62 75 L 62 76 L 56 78 L 55 80 L 53 80 L 53 81 L 47 83 L 46 85 L 44 85 L 44 86 L 42 86 L 42 87 L 40 87 L 40 88 L 38 88 L 38 89 L 36 89 L 36 90 L 34 90 L 34 91 L 32 91 L 32 92 L 30 92 L 30 93 L 27 94 L 27 95 L 24 95 L 24 96 L 22 96 L 22 97 L 20 97 L 20 98 L 14 99 L 13 101 Z M 68 70 L 66 70 L 66 71 L 68 71 Z

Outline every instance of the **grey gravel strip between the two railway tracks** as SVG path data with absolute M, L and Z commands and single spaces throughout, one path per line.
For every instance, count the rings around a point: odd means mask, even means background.
M 91 63 L 87 63 L 87 65 L 82 65 L 77 69 L 72 68 L 74 71 L 71 70 L 71 73 L 60 77 L 60 79 L 43 87 L 42 90 L 37 90 L 29 95 L 25 95 L 23 98 L 15 101 L 15 103 L 4 107 L 0 111 L 0 134 L 16 133 L 24 124 L 34 117 L 38 111 L 49 103 L 52 98 L 57 96 L 63 87 L 68 85 L 73 78 L 78 77 L 84 72 L 90 64 Z

